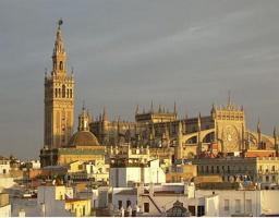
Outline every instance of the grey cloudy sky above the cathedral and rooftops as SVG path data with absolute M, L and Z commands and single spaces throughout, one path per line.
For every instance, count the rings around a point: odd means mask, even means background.
M 210 113 L 243 105 L 246 124 L 279 128 L 277 0 L 1 0 L 0 155 L 38 158 L 44 74 L 57 22 L 74 69 L 75 122 L 83 100 L 96 118 L 134 120 L 136 105 Z M 75 124 L 76 125 L 76 124 Z

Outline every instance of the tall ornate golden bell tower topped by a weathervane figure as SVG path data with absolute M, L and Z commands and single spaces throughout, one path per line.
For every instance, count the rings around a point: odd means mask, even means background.
M 74 78 L 65 68 L 66 53 L 58 22 L 52 55 L 52 71 L 45 76 L 45 146 L 68 145 L 74 124 Z

